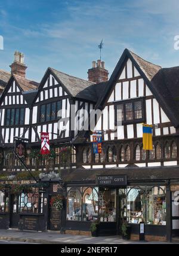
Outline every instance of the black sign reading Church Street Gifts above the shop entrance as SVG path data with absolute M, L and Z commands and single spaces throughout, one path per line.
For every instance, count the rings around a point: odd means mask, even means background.
M 98 186 L 126 186 L 126 175 L 97 175 L 96 185 Z

